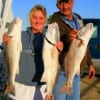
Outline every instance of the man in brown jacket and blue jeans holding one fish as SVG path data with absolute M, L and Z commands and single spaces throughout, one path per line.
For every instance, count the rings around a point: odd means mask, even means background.
M 83 20 L 78 14 L 72 12 L 74 0 L 57 0 L 56 6 L 59 11 L 53 14 L 50 19 L 50 23 L 58 23 L 60 39 L 64 44 L 64 48 L 59 57 L 61 71 L 58 75 L 57 84 L 54 88 L 55 100 L 80 100 L 80 69 L 74 78 L 73 94 L 69 96 L 67 94 L 60 93 L 59 90 L 66 81 L 63 66 L 65 53 L 68 51 L 71 41 L 77 37 L 78 30 L 83 26 Z M 93 74 L 93 77 L 95 75 L 95 69 L 91 60 L 89 49 L 87 49 L 86 56 L 81 63 L 81 69 L 85 64 L 89 66 L 89 75 Z

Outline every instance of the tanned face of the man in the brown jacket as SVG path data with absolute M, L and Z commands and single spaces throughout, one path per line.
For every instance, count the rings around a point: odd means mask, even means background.
M 69 0 L 69 2 L 60 2 L 57 4 L 57 7 L 59 9 L 59 11 L 64 14 L 65 16 L 68 16 L 70 14 L 72 14 L 72 9 L 73 9 L 73 0 Z

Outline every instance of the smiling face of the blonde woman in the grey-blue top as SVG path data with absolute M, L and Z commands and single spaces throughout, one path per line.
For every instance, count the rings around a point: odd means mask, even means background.
M 40 10 L 37 10 L 31 17 L 30 23 L 33 32 L 42 32 L 46 23 L 46 17 Z

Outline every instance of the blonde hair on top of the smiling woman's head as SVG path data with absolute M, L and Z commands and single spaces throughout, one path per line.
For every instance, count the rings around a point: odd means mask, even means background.
M 35 12 L 36 12 L 36 11 L 41 11 L 41 12 L 43 13 L 43 15 L 44 15 L 45 17 L 47 17 L 46 8 L 43 7 L 42 5 L 35 5 L 35 6 L 31 9 L 31 11 L 30 11 L 30 13 L 29 13 L 29 19 L 31 19 L 31 18 L 35 15 Z

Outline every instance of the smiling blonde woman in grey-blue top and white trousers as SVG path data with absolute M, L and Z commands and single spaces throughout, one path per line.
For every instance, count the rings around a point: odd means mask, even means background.
M 16 100 L 47 100 L 46 84 L 40 82 L 43 74 L 42 46 L 44 34 L 47 30 L 46 9 L 41 5 L 34 6 L 30 13 L 30 27 L 22 32 L 22 53 L 20 58 L 20 72 L 16 76 Z M 4 35 L 4 43 L 11 37 Z M 62 50 L 62 43 L 56 46 Z M 51 98 L 51 100 L 53 97 Z

